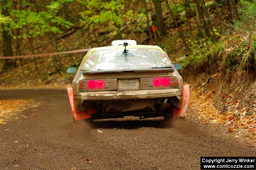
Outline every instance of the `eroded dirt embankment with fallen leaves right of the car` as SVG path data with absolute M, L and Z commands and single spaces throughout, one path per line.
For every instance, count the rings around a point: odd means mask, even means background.
M 195 119 L 211 124 L 227 124 L 231 133 L 244 131 L 256 136 L 254 67 L 242 69 L 239 66 L 229 71 L 222 62 L 213 62 L 208 58 L 197 66 L 188 65 L 181 72 L 183 81 L 190 84 L 190 101 L 198 104 Z M 212 103 L 216 110 L 213 111 L 207 103 Z

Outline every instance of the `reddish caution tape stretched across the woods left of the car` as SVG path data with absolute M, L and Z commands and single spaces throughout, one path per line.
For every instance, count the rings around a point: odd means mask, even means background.
M 0 57 L 0 60 L 5 59 L 12 59 L 12 58 L 30 58 L 30 57 L 45 57 L 49 55 L 60 55 L 60 54 L 70 54 L 70 53 L 78 53 L 78 52 L 87 52 L 90 49 L 77 49 L 77 50 L 71 50 L 71 51 L 62 51 L 62 52 L 52 52 L 52 53 L 45 53 L 45 54 L 33 54 L 33 55 L 16 55 L 16 56 L 5 56 Z

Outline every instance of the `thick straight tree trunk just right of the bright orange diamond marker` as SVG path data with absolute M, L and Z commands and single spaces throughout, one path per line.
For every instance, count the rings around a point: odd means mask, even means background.
M 162 7 L 160 0 L 154 0 L 155 2 L 155 16 L 156 16 L 156 27 L 160 36 L 166 35 L 166 30 L 164 26 L 164 19 L 162 14 Z

